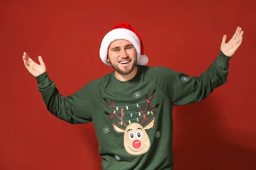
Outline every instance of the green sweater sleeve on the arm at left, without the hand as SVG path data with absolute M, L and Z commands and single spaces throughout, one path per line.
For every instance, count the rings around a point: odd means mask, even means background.
M 92 121 L 96 109 L 97 97 L 90 99 L 92 89 L 85 85 L 75 94 L 64 97 L 58 91 L 55 83 L 49 79 L 47 72 L 35 77 L 38 82 L 38 91 L 41 92 L 47 110 L 58 119 L 71 124 L 88 123 Z M 84 95 L 85 94 L 85 95 Z M 86 98 L 86 97 L 87 98 Z M 86 101 L 85 101 L 86 100 Z M 87 105 L 85 107 L 85 102 Z M 90 103 L 94 102 L 94 103 Z

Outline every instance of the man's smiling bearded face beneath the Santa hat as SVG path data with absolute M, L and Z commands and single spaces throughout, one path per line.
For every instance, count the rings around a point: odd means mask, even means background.
M 115 40 L 109 45 L 107 61 L 119 74 L 130 74 L 137 63 L 136 50 L 127 40 Z

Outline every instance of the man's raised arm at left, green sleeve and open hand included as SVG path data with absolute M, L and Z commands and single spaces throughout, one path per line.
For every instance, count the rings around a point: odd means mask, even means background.
M 89 86 L 83 87 L 81 90 L 70 96 L 64 97 L 55 87 L 55 83 L 49 79 L 46 66 L 41 56 L 38 57 L 40 65 L 34 62 L 24 52 L 23 61 L 26 69 L 32 74 L 38 82 L 38 91 L 41 92 L 47 110 L 58 119 L 62 119 L 71 124 L 87 123 L 92 121 L 94 105 L 87 102 L 87 108 L 84 107 L 86 89 Z M 88 92 L 87 96 L 91 94 Z

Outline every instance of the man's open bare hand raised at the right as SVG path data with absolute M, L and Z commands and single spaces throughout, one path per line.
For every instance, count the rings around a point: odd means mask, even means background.
M 244 31 L 241 27 L 236 28 L 236 32 L 229 42 L 226 43 L 227 35 L 224 35 L 221 42 L 221 51 L 228 57 L 232 57 L 242 43 Z

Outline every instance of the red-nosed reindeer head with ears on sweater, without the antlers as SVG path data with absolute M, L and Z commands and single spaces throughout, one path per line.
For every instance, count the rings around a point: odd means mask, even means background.
M 153 118 L 145 127 L 138 123 L 131 123 L 126 129 L 123 129 L 113 123 L 113 128 L 118 133 L 125 133 L 124 146 L 126 152 L 131 155 L 140 155 L 147 152 L 150 147 L 150 140 L 145 130 L 154 127 L 154 123 L 155 119 Z

